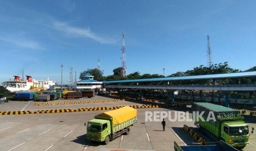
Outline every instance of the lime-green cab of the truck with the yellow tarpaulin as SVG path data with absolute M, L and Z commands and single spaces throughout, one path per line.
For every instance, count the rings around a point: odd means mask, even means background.
M 110 135 L 111 126 L 109 120 L 92 119 L 87 124 L 87 138 L 90 141 L 103 142 Z

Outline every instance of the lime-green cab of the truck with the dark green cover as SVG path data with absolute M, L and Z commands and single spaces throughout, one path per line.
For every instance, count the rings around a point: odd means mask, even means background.
M 249 143 L 248 125 L 243 121 L 222 123 L 221 140 L 225 141 L 233 147 L 246 147 L 246 145 Z

